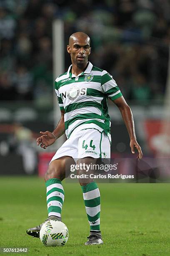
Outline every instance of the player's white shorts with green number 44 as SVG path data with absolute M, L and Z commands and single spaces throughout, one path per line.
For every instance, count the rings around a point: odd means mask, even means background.
M 110 138 L 94 128 L 80 130 L 75 128 L 70 138 L 57 150 L 51 161 L 62 156 L 71 156 L 73 159 L 81 159 L 87 156 L 92 158 L 110 159 Z

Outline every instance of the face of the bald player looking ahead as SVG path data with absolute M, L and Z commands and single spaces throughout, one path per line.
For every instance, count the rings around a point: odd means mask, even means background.
M 84 66 L 87 64 L 87 59 L 90 54 L 89 38 L 75 37 L 72 39 L 70 46 L 67 46 L 67 51 L 71 55 L 72 64 Z

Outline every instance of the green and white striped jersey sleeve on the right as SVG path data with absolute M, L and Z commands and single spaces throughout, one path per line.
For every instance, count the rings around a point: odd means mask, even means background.
M 115 80 L 105 70 L 102 71 L 101 89 L 102 92 L 110 98 L 110 100 L 116 100 L 122 96 L 122 93 L 120 92 Z

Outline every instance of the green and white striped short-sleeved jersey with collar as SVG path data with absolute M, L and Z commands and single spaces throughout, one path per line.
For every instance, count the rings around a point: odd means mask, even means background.
M 69 138 L 77 126 L 95 128 L 110 133 L 110 116 L 107 99 L 115 100 L 122 96 L 112 76 L 105 70 L 88 62 L 85 72 L 77 77 L 68 71 L 55 80 L 60 110 L 65 110 L 65 134 Z

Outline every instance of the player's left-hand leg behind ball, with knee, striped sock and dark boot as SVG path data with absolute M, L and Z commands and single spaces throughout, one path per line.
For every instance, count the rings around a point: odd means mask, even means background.
M 61 210 L 64 202 L 64 189 L 61 181 L 65 179 L 65 166 L 67 162 L 73 161 L 72 157 L 64 156 L 53 160 L 45 174 L 45 184 L 47 187 L 47 220 L 61 221 Z M 45 221 L 43 223 L 45 223 Z M 43 223 L 27 230 L 28 235 L 40 237 L 40 228 Z

